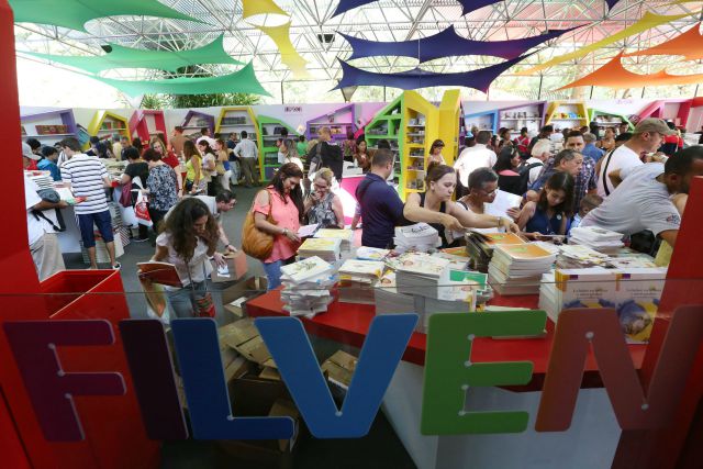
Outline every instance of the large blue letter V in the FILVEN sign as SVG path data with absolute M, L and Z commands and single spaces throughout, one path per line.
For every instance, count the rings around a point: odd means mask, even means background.
M 317 438 L 360 438 L 369 432 L 416 322 L 416 314 L 373 319 L 339 411 L 300 320 L 255 321 L 310 432 Z

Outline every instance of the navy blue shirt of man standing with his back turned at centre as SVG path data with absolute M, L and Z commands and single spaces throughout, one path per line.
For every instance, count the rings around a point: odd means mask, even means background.
M 364 220 L 361 244 L 381 249 L 392 246 L 395 226 L 405 222 L 398 192 L 383 178 L 369 172 L 356 189 L 356 200 Z

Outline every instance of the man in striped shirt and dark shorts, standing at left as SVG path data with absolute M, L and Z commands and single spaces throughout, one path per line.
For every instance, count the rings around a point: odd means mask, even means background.
M 90 268 L 97 269 L 96 235 L 93 224 L 98 227 L 102 241 L 105 243 L 110 256 L 110 265 L 119 269 L 120 263 L 114 259 L 114 235 L 112 233 L 112 217 L 108 210 L 105 188 L 112 187 L 108 170 L 102 161 L 94 156 L 80 152 L 80 143 L 69 137 L 62 141 L 64 153 L 70 158 L 62 167 L 64 182 L 72 189 L 74 196 L 86 198 L 74 208 L 78 217 L 80 237 L 83 247 L 88 249 Z

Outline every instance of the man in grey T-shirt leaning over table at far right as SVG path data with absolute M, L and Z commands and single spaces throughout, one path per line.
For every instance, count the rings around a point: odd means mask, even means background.
M 703 176 L 703 147 L 677 153 L 666 164 L 628 166 L 614 172 L 623 181 L 581 226 L 600 226 L 625 235 L 651 231 L 674 246 L 681 216 L 671 196 L 689 193 L 691 180 Z

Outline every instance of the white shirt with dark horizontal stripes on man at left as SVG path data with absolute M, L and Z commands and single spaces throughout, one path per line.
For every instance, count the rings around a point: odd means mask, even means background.
M 108 210 L 103 178 L 108 170 L 100 159 L 83 154 L 74 155 L 62 166 L 62 177 L 70 183 L 74 196 L 86 201 L 74 206 L 76 214 L 100 213 Z

